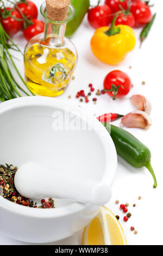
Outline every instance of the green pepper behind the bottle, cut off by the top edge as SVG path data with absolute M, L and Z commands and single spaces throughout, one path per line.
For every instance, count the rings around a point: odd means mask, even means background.
M 75 14 L 73 19 L 68 22 L 65 35 L 70 37 L 77 31 L 83 21 L 83 18 L 90 7 L 90 0 L 71 0 Z

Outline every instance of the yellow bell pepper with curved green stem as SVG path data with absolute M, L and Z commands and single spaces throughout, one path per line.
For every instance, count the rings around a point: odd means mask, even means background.
M 101 27 L 91 39 L 91 49 L 95 56 L 104 63 L 117 65 L 135 47 L 135 33 L 126 25 L 115 26 L 115 15 L 111 27 Z

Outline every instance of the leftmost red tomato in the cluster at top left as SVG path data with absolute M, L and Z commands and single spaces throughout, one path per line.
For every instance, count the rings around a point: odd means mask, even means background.
M 12 10 L 12 8 L 10 7 L 7 7 L 6 9 L 8 11 Z M 1 12 L 4 13 L 4 9 L 1 9 Z M 11 11 L 11 15 L 14 16 L 16 19 L 22 19 L 22 16 L 20 15 L 20 13 L 18 13 L 16 9 Z M 5 32 L 10 36 L 15 35 L 18 31 L 20 31 L 23 25 L 23 21 L 17 21 L 10 16 L 4 19 L 3 16 L 0 15 L 0 21 Z

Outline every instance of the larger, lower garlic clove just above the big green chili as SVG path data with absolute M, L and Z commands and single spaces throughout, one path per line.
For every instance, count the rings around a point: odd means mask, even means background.
M 144 111 L 133 111 L 124 115 L 121 123 L 126 127 L 147 130 L 152 125 L 152 120 Z

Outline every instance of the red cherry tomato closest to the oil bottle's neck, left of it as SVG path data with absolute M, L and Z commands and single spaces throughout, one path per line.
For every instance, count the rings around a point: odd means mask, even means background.
M 26 38 L 27 41 L 33 38 L 34 35 L 42 33 L 44 30 L 45 24 L 43 21 L 32 19 L 32 22 L 34 23 L 33 25 L 23 30 L 24 38 Z

